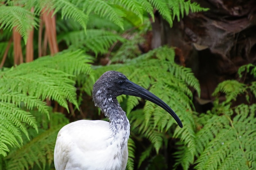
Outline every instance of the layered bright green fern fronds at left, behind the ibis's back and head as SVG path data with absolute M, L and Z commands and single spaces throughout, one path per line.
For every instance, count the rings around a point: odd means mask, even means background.
M 10 147 L 21 146 L 22 133 L 29 138 L 26 125 L 38 131 L 36 119 L 25 108 L 49 116 L 45 99 L 55 100 L 67 110 L 67 101 L 78 108 L 74 75 L 90 74 L 87 62 L 91 58 L 82 51 L 67 51 L 0 72 L 0 117 L 4 120 L 0 124 L 0 155 L 7 156 Z

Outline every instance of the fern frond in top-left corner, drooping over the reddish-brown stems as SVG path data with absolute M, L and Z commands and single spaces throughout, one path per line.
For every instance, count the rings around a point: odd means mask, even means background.
M 38 26 L 37 22 L 38 18 L 25 8 L 0 5 L 0 29 L 11 30 L 17 26 L 15 31 L 20 33 L 25 43 L 32 28 Z

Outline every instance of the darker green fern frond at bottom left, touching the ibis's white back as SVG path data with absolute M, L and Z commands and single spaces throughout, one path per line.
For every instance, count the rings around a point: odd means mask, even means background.
M 53 151 L 58 131 L 68 123 L 64 115 L 58 113 L 51 113 L 51 119 L 42 117 L 41 113 L 37 114 L 39 134 L 33 137 L 31 141 L 23 145 L 21 148 L 12 150 L 8 157 L 5 158 L 8 170 L 27 170 L 35 165 L 41 169 L 45 169 L 53 162 Z M 40 117 L 41 116 L 41 117 Z M 49 128 L 50 127 L 50 128 Z

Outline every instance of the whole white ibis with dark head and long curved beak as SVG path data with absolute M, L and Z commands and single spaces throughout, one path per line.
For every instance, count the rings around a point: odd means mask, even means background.
M 107 71 L 94 84 L 92 98 L 109 122 L 79 120 L 61 128 L 54 148 L 56 170 L 125 170 L 130 124 L 117 102 L 117 96 L 122 94 L 157 104 L 170 113 L 182 128 L 179 117 L 161 99 L 122 73 Z

